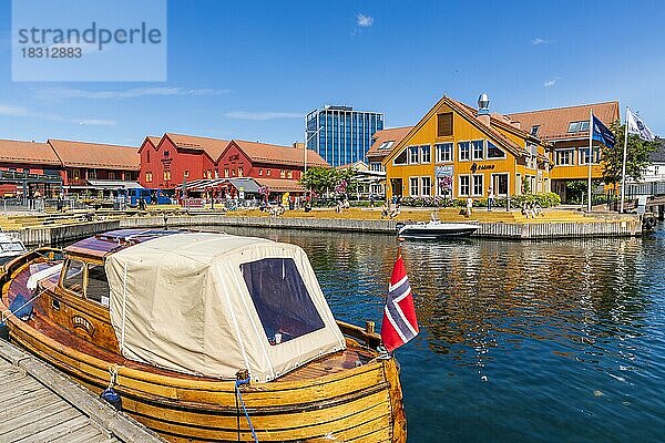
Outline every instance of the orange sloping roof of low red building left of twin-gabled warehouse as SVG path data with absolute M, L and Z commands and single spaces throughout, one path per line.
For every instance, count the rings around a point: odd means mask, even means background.
M 139 171 L 141 157 L 135 146 L 49 140 L 65 167 L 92 167 Z

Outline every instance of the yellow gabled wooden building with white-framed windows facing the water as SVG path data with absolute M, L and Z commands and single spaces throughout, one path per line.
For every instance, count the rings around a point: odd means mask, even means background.
M 550 145 L 511 120 L 443 96 L 382 162 L 387 196 L 487 198 L 550 192 Z

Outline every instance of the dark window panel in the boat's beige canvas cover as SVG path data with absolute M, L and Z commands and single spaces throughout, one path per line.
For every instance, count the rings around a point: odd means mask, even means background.
M 264 258 L 241 270 L 270 344 L 324 328 L 293 258 Z

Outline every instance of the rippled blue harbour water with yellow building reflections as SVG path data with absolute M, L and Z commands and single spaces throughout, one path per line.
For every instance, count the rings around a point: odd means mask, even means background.
M 409 442 L 665 441 L 665 230 L 407 243 L 421 334 L 397 351 Z M 225 229 L 301 246 L 337 318 L 381 319 L 391 236 Z

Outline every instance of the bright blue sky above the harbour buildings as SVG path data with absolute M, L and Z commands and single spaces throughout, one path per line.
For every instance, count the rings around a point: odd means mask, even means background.
M 12 82 L 0 138 L 137 145 L 164 132 L 290 144 L 324 104 L 415 124 L 443 93 L 493 112 L 620 100 L 665 134 L 658 1 L 168 1 L 166 82 Z M 131 69 L 131 66 L 129 68 Z

